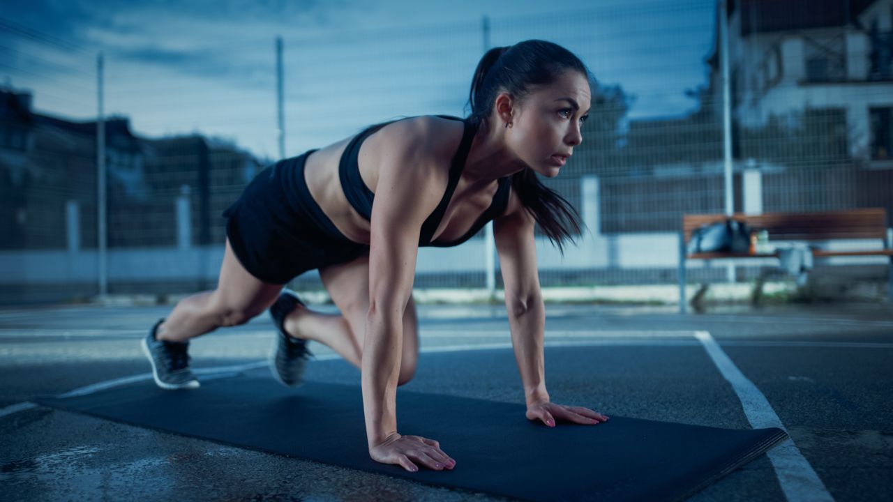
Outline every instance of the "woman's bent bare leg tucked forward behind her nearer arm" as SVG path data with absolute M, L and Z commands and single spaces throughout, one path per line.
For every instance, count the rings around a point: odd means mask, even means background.
M 341 314 L 321 314 L 298 305 L 285 318 L 288 334 L 331 347 L 357 368 L 362 366 L 363 333 L 369 311 L 369 256 L 320 268 L 322 285 Z M 403 355 L 398 385 L 413 378 L 419 357 L 419 323 L 412 297 L 403 318 Z

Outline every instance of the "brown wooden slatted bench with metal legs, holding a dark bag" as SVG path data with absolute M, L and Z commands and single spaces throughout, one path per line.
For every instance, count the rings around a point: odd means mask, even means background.
M 735 213 L 732 218 L 746 222 L 750 230 L 768 230 L 771 242 L 880 238 L 883 242 L 883 249 L 828 251 L 812 247 L 812 252 L 816 258 L 830 256 L 889 256 L 889 298 L 893 300 L 893 229 L 889 229 L 887 211 L 885 209 L 852 209 L 822 213 Z M 747 253 L 696 253 L 689 255 L 688 244 L 692 232 L 701 225 L 723 222 L 725 219 L 726 216 L 724 214 L 685 214 L 682 216 L 679 262 L 679 305 L 681 314 L 685 314 L 686 311 L 686 261 L 715 258 L 777 258 L 779 256 L 778 252 L 759 255 Z

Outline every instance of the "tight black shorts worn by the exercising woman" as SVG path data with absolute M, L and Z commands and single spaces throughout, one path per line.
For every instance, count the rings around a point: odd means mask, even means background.
M 310 196 L 307 156 L 265 168 L 223 212 L 226 235 L 238 261 L 259 280 L 286 284 L 298 275 L 369 254 L 369 246 L 342 234 Z

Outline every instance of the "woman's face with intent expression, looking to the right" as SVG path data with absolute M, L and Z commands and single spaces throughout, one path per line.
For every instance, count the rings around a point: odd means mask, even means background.
M 554 178 L 583 140 L 580 127 L 588 117 L 590 98 L 588 79 L 579 71 L 565 71 L 514 105 L 506 143 L 530 169 Z

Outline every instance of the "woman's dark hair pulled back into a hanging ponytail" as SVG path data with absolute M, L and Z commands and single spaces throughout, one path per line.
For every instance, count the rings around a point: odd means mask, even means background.
M 492 48 L 480 58 L 474 71 L 468 93 L 472 112 L 466 120 L 489 122 L 499 92 L 506 91 L 520 100 L 535 86 L 548 85 L 568 70 L 590 78 L 580 58 L 552 42 L 525 40 L 514 46 Z M 580 213 L 558 192 L 543 185 L 530 168 L 512 175 L 512 189 L 563 255 L 563 241 L 573 242 L 573 236 L 581 233 Z

